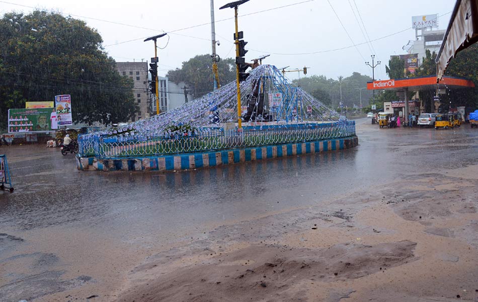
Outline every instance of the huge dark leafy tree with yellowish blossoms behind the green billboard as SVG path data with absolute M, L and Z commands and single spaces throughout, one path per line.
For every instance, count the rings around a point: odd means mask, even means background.
M 0 19 L 0 116 L 26 101 L 70 94 L 74 122 L 134 118 L 133 83 L 115 69 L 100 34 L 85 22 L 42 11 Z M 5 127 L 6 119 L 0 118 Z

